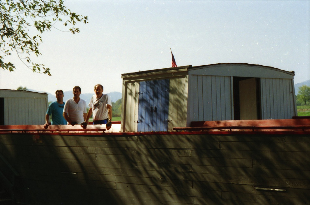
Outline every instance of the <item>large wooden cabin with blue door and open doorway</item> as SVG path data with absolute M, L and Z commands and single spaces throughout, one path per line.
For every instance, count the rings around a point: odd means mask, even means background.
M 172 131 L 191 121 L 297 116 L 294 71 L 244 63 L 122 74 L 121 131 Z

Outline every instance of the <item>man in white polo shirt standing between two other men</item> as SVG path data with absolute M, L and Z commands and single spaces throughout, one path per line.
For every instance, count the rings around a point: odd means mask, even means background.
M 73 88 L 74 97 L 67 100 L 64 104 L 64 112 L 62 114 L 69 125 L 82 124 L 86 118 L 86 101 L 80 98 L 80 94 L 81 88 L 75 86 Z

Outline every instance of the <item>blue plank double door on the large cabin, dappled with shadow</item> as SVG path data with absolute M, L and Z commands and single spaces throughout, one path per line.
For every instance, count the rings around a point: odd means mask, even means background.
M 139 84 L 138 132 L 168 131 L 169 79 Z

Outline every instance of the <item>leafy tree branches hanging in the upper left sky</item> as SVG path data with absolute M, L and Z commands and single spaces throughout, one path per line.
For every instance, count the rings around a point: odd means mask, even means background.
M 63 0 L 0 0 L 1 69 L 14 71 L 14 64 L 6 62 L 6 57 L 16 52 L 33 72 L 51 75 L 48 67 L 31 60 L 31 54 L 41 55 L 40 34 L 51 30 L 56 22 L 62 22 L 64 27 L 71 25 L 69 31 L 72 34 L 79 33 L 79 29 L 74 27 L 76 23 L 88 23 L 87 16 L 71 12 Z M 31 36 L 29 29 L 32 28 L 40 34 Z

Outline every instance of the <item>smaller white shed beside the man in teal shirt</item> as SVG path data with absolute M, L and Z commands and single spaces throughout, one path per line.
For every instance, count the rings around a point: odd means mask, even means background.
M 0 89 L 0 125 L 42 125 L 47 93 Z

